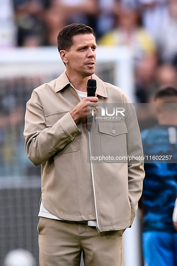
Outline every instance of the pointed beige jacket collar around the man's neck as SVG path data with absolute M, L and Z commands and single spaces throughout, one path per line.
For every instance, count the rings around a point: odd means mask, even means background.
M 108 98 L 106 87 L 104 82 L 99 79 L 95 74 L 92 75 L 92 79 L 96 79 L 97 89 L 96 92 L 99 96 Z M 66 85 L 71 85 L 68 77 L 66 76 L 66 70 L 56 79 L 55 92 L 62 90 Z

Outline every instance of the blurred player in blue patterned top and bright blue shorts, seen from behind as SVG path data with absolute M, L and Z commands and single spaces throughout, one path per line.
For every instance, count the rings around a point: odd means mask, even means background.
M 150 162 L 144 166 L 142 196 L 144 261 L 146 266 L 176 266 L 177 231 L 172 215 L 177 195 L 177 88 L 158 90 L 155 103 L 158 125 L 141 133 Z M 155 161 L 152 156 L 165 160 Z

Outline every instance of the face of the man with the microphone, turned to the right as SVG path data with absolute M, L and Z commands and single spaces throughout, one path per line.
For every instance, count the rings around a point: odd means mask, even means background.
M 95 50 L 96 41 L 93 34 L 79 34 L 73 36 L 71 48 L 68 51 L 63 50 L 64 57 L 62 59 L 66 64 L 66 73 L 83 78 L 91 76 L 95 72 Z

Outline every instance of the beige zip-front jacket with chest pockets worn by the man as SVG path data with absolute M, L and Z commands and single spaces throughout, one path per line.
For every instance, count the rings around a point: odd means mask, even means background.
M 64 72 L 32 92 L 25 114 L 26 153 L 42 165 L 42 202 L 50 213 L 71 221 L 97 219 L 100 232 L 125 229 L 137 211 L 144 170 L 143 163 L 120 156 L 142 155 L 140 131 L 125 93 L 95 74 L 92 78 L 98 105 L 120 103 L 125 116 L 106 120 L 97 114 L 88 140 L 85 121 L 76 125 L 69 114 L 80 98 Z M 87 143 L 92 156 L 119 158 L 90 163 Z

